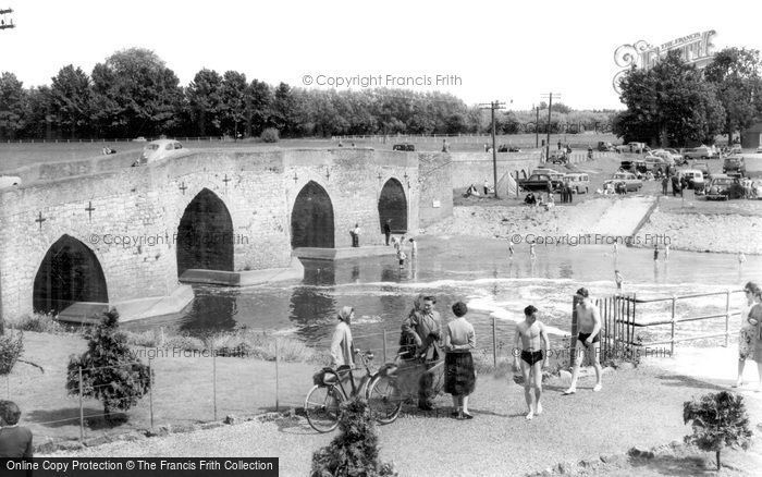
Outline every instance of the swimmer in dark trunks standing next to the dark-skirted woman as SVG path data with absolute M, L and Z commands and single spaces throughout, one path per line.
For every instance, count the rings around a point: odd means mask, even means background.
M 518 345 L 521 343 L 521 359 L 519 362 Z M 540 348 L 542 342 L 542 350 Z M 548 348 L 550 342 L 545 326 L 537 319 L 537 308 L 532 305 L 524 308 L 524 321 L 516 326 L 516 342 L 514 344 L 514 370 L 521 368 L 524 376 L 524 397 L 527 400 L 529 414 L 527 419 L 542 414 L 542 369 L 548 367 Z M 532 405 L 531 389 L 534 388 Z

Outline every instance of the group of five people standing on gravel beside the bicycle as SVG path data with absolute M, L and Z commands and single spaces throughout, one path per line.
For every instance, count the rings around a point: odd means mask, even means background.
M 578 304 L 575 307 L 579 334 L 577 335 L 577 355 L 572 372 L 569 388 L 562 394 L 577 393 L 582 357 L 587 355 L 595 369 L 595 386 L 593 392 L 601 391 L 602 369 L 600 365 L 600 332 L 601 318 L 598 307 L 590 298 L 587 289 L 576 293 Z M 402 322 L 400 335 L 400 366 L 404 369 L 417 369 L 418 407 L 432 411 L 434 399 L 434 370 L 444 358 L 444 392 L 452 395 L 453 407 L 451 416 L 456 419 L 472 419 L 468 409 L 468 397 L 474 393 L 477 372 L 474 366 L 471 351 L 476 348 L 476 332 L 474 326 L 466 319 L 468 306 L 456 302 L 452 306 L 454 318 L 445 326 L 435 308 L 437 298 L 431 295 L 418 295 L 407 317 Z M 524 393 L 527 403 L 527 419 L 542 414 L 542 371 L 548 367 L 550 339 L 542 321 L 538 318 L 539 310 L 533 305 L 524 309 L 524 321 L 516 326 L 515 348 L 513 353 L 514 372 L 521 372 Z M 352 307 L 344 307 L 337 315 L 331 356 L 333 365 L 348 369 L 354 365 L 351 322 L 354 317 Z M 402 384 L 401 384 L 402 386 Z M 354 382 L 353 382 L 354 387 Z M 354 390 L 354 388 L 353 388 Z

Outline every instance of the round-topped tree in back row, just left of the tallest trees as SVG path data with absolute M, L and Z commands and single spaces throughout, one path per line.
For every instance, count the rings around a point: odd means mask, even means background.
M 90 119 L 90 78 L 82 69 L 69 64 L 59 70 L 50 86 L 50 106 L 59 126 L 67 127 L 70 137 L 75 138 Z

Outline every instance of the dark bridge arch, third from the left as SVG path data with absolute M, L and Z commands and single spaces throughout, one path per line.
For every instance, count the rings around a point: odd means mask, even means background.
M 291 212 L 291 246 L 333 248 L 333 205 L 318 183 L 302 187 Z

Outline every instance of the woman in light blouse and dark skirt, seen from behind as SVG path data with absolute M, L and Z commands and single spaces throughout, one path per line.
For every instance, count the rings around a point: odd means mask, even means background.
M 472 419 L 468 413 L 468 395 L 476 387 L 476 371 L 471 350 L 476 347 L 474 326 L 466 321 L 468 307 L 463 302 L 453 305 L 455 319 L 447 323 L 444 338 L 444 392 L 453 395 L 452 416 L 458 419 Z

